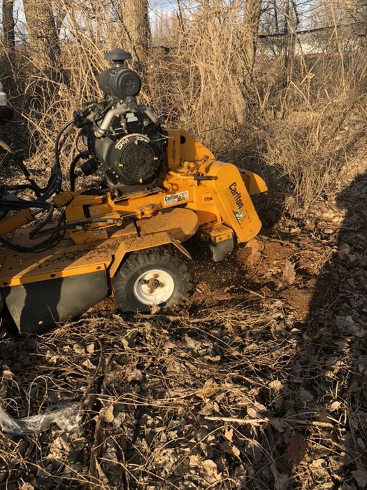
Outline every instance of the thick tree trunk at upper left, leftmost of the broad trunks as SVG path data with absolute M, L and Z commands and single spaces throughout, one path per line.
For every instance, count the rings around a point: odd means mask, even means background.
M 41 71 L 54 71 L 59 57 L 59 38 L 50 0 L 23 0 L 31 61 Z

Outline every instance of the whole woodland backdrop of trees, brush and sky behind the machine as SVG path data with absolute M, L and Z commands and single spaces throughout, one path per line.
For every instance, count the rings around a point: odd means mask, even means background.
M 2 13 L 0 77 L 34 167 L 47 168 L 57 128 L 100 97 L 115 46 L 131 51 L 164 124 L 257 169 L 289 210 L 307 212 L 364 151 L 364 1 L 3 0 Z

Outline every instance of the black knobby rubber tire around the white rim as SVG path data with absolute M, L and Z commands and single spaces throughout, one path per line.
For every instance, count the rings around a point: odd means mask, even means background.
M 134 284 L 143 272 L 157 268 L 170 274 L 174 283 L 171 297 L 159 307 L 173 307 L 189 297 L 192 281 L 185 263 L 166 248 L 150 248 L 131 253 L 113 277 L 115 300 L 122 311 L 151 311 L 150 305 L 143 304 L 134 294 Z

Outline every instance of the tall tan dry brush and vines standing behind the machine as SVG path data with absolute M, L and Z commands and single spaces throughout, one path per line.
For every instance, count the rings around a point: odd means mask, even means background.
M 340 169 L 356 153 L 364 154 L 364 50 L 356 45 L 343 51 L 340 34 L 330 36 L 321 57 L 294 59 L 285 89 L 282 57 L 269 57 L 261 44 L 249 80 L 240 50 L 240 3 L 219 4 L 205 19 L 196 10 L 184 30 L 175 17 L 164 20 L 154 43 L 173 48 L 150 53 L 141 98 L 164 124 L 185 127 L 219 158 L 258 170 L 291 214 L 294 209 L 306 213 L 312 200 L 335 187 Z M 78 1 L 63 1 L 62 7 L 69 38 L 52 79 L 31 65 L 23 46 L 1 69 L 2 77 L 13 74 L 13 84 L 6 83 L 28 123 L 31 166 L 43 169 L 52 160 L 57 128 L 75 109 L 101 97 L 97 78 L 107 66 L 103 53 L 120 43 L 120 31 L 101 1 L 94 0 L 98 15 L 85 16 L 82 28 Z M 352 30 L 343 36 L 354 42 Z M 67 149 L 65 167 L 73 151 Z

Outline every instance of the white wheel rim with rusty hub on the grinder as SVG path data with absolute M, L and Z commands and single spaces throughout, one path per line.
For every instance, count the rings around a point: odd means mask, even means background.
M 169 300 L 174 289 L 171 274 L 163 269 L 150 269 L 136 279 L 134 295 L 143 304 L 161 304 Z

